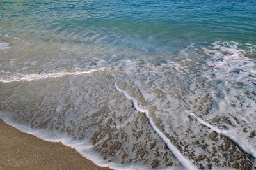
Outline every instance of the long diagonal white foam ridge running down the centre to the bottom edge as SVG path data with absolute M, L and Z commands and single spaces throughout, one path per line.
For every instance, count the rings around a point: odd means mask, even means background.
M 168 146 L 168 148 L 171 150 L 171 152 L 173 153 L 173 155 L 179 160 L 180 164 L 182 164 L 183 167 L 185 167 L 186 169 L 189 170 L 194 170 L 194 169 L 198 169 L 197 167 L 195 167 L 189 159 L 187 159 L 186 157 L 184 157 L 182 155 L 182 153 L 180 153 L 179 149 L 173 145 L 173 143 L 170 142 L 170 139 L 168 139 L 163 132 L 160 131 L 160 129 L 154 124 L 152 118 L 149 115 L 149 111 L 147 109 L 142 109 L 138 106 L 138 101 L 134 98 L 131 97 L 126 91 L 121 90 L 118 85 L 115 83 L 115 88 L 116 90 L 118 90 L 119 92 L 121 92 L 122 94 L 124 94 L 124 96 L 131 100 L 132 103 L 134 104 L 134 108 L 142 113 L 145 113 L 146 117 L 149 120 L 149 123 L 151 125 L 151 127 L 154 129 L 154 131 L 157 132 L 157 134 L 160 136 L 160 138 L 163 139 L 164 143 Z

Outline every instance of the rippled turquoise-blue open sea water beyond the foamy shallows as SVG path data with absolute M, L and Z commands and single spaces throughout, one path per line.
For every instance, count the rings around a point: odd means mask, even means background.
M 1 1 L 1 31 L 168 52 L 204 41 L 255 43 L 255 9 L 255 1 Z

